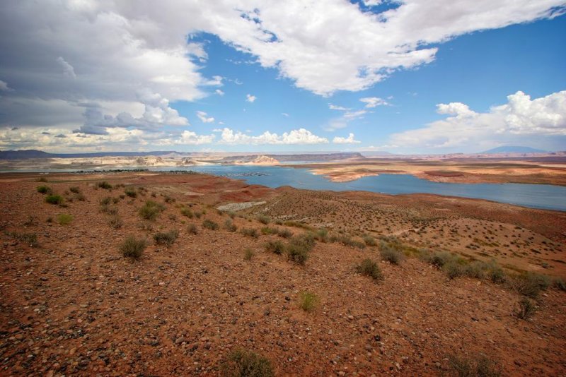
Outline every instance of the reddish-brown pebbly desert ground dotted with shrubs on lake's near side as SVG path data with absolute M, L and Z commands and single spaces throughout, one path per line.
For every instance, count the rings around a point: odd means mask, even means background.
M 238 350 L 277 376 L 566 373 L 563 212 L 205 174 L 0 187 L 2 376 L 234 376 Z

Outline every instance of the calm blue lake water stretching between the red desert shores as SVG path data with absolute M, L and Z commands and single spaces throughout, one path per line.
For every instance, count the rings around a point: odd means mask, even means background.
M 171 169 L 175 168 L 151 168 L 156 171 Z M 566 187 L 548 184 L 448 184 L 419 179 L 410 174 L 380 174 L 339 183 L 328 181 L 321 175 L 311 174 L 308 169 L 292 167 L 209 165 L 185 169 L 244 179 L 249 184 L 260 184 L 272 188 L 292 186 L 309 190 L 371 191 L 390 194 L 434 193 L 566 211 Z

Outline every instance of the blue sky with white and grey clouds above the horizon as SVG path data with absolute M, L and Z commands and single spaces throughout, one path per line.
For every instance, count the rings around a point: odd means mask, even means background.
M 0 9 L 0 150 L 566 150 L 566 0 Z

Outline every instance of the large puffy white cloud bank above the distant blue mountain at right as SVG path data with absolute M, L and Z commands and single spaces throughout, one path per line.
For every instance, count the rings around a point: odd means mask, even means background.
M 485 113 L 460 102 L 439 104 L 437 111 L 451 116 L 395 133 L 391 144 L 405 150 L 478 152 L 504 144 L 556 150 L 566 142 L 566 90 L 534 100 L 519 91 Z

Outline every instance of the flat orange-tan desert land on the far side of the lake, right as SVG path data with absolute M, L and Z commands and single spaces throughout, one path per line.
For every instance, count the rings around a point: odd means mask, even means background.
M 288 165 L 289 166 L 289 165 Z M 362 176 L 412 174 L 418 178 L 453 183 L 520 183 L 566 185 L 566 156 L 481 158 L 364 158 L 348 162 L 297 164 L 331 181 L 346 182 Z

